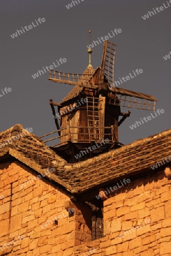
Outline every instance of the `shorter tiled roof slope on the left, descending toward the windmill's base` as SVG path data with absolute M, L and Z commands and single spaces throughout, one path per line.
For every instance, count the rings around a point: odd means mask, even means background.
M 54 168 L 58 175 L 50 173 L 49 179 L 55 180 L 67 188 L 67 184 L 63 184 L 63 180 L 59 180 L 59 176 L 63 177 L 62 172 L 66 161 L 50 150 L 39 137 L 23 129 L 22 125 L 15 125 L 0 133 L 0 159 L 10 155 L 40 174 L 46 175 L 47 168 Z M 69 189 L 72 188 L 69 187 Z

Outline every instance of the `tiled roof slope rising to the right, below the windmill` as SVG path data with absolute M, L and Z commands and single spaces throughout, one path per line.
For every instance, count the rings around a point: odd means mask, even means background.
M 167 156 L 171 157 L 171 130 L 75 163 L 72 174 L 79 180 L 76 183 L 77 192 L 82 193 L 93 187 L 112 184 L 123 176 L 152 171 L 151 166 Z

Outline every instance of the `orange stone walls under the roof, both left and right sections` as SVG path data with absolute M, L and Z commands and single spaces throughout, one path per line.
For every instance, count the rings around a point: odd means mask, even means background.
M 171 255 L 171 180 L 163 170 L 108 193 L 104 237 L 95 241 L 88 205 L 37 175 L 17 161 L 0 164 L 0 256 Z

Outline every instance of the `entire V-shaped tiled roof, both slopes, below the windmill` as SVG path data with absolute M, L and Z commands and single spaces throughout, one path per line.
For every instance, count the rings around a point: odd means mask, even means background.
M 45 174 L 48 167 L 54 168 L 55 173 L 48 178 L 71 193 L 85 193 L 112 184 L 123 176 L 152 171 L 153 164 L 171 156 L 171 130 L 74 164 L 67 164 L 41 139 L 24 130 L 21 125 L 0 133 L 0 143 L 10 139 L 11 135 L 16 136 L 17 132 L 22 134 L 21 138 L 13 144 L 7 143 L 0 147 L 0 159 L 2 156 L 12 155 L 41 174 Z

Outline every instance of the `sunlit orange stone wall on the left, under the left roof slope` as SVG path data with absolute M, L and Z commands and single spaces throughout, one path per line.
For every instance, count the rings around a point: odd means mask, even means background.
M 91 239 L 80 215 L 85 207 L 81 212 L 70 195 L 37 175 L 19 162 L 0 164 L 0 255 L 69 256 Z

